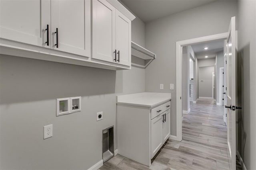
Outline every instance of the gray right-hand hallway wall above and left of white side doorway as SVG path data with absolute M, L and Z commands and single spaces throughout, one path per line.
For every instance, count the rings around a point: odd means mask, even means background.
M 216 55 L 216 72 L 215 72 L 215 78 L 216 78 L 216 102 L 220 103 L 220 67 L 224 67 L 224 53 L 223 51 L 220 51 Z M 224 84 L 224 82 L 223 82 Z M 221 97 L 223 95 L 221 94 Z M 222 100 L 222 99 L 221 99 Z

